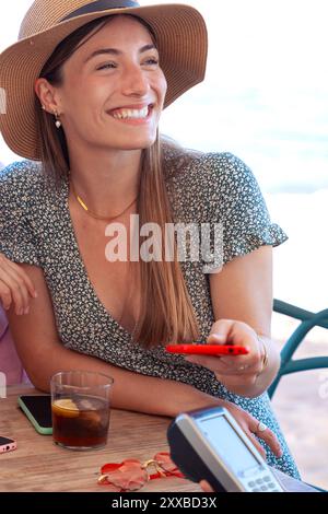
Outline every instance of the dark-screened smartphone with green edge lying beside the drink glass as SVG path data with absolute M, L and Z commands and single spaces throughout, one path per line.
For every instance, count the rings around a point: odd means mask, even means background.
M 39 434 L 52 434 L 50 395 L 19 396 L 17 404 Z

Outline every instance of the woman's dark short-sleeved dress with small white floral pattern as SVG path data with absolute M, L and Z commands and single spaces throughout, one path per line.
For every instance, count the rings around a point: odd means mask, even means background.
M 218 222 L 224 229 L 223 260 L 248 254 L 261 245 L 286 240 L 271 223 L 250 170 L 229 153 L 198 153 L 167 149 L 165 182 L 175 223 Z M 50 186 L 40 165 L 24 161 L 0 174 L 0 252 L 16 262 L 42 267 L 62 343 L 124 369 L 190 384 L 210 395 L 235 402 L 265 422 L 278 435 L 284 454 L 268 462 L 298 477 L 267 394 L 245 398 L 230 393 L 214 374 L 165 353 L 162 347 L 144 350 L 105 309 L 84 268 L 68 208 L 69 185 Z M 209 276 L 201 260 L 181 262 L 187 289 L 204 342 L 214 323 Z M 160 401 L 160 399 L 159 399 Z

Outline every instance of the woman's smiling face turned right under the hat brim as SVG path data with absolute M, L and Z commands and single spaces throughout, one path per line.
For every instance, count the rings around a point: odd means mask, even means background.
M 70 149 L 137 150 L 155 141 L 166 81 L 138 20 L 110 19 L 65 62 L 62 78 L 52 92 Z

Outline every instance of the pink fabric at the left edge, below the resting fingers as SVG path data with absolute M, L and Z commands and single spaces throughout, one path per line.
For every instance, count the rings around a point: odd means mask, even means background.
M 0 305 L 0 371 L 4 373 L 7 385 L 28 382 L 12 340 L 8 319 Z

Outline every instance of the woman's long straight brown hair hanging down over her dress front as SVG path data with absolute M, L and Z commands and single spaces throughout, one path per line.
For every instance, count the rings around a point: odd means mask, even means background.
M 134 16 L 133 16 L 134 17 Z M 84 39 L 96 34 L 110 19 L 105 16 L 83 25 L 55 49 L 40 77 L 52 85 L 62 84 L 62 65 L 69 57 L 87 40 Z M 154 43 L 155 35 L 143 20 Z M 67 179 L 70 170 L 69 152 L 62 128 L 55 127 L 54 116 L 40 108 L 36 98 L 38 130 L 42 137 L 42 163 L 47 177 L 51 177 L 56 185 Z M 171 205 L 167 197 L 164 165 L 162 159 L 162 144 L 157 135 L 155 143 L 142 150 L 140 162 L 140 182 L 138 200 L 139 223 L 157 223 L 165 234 L 165 224 L 173 223 Z M 165 247 L 162 240 L 162 248 Z M 174 260 L 140 259 L 141 306 L 134 340 L 145 348 L 164 344 L 171 341 L 192 341 L 199 337 L 198 325 L 192 304 L 186 288 L 183 271 L 177 259 L 176 241 L 174 241 Z

